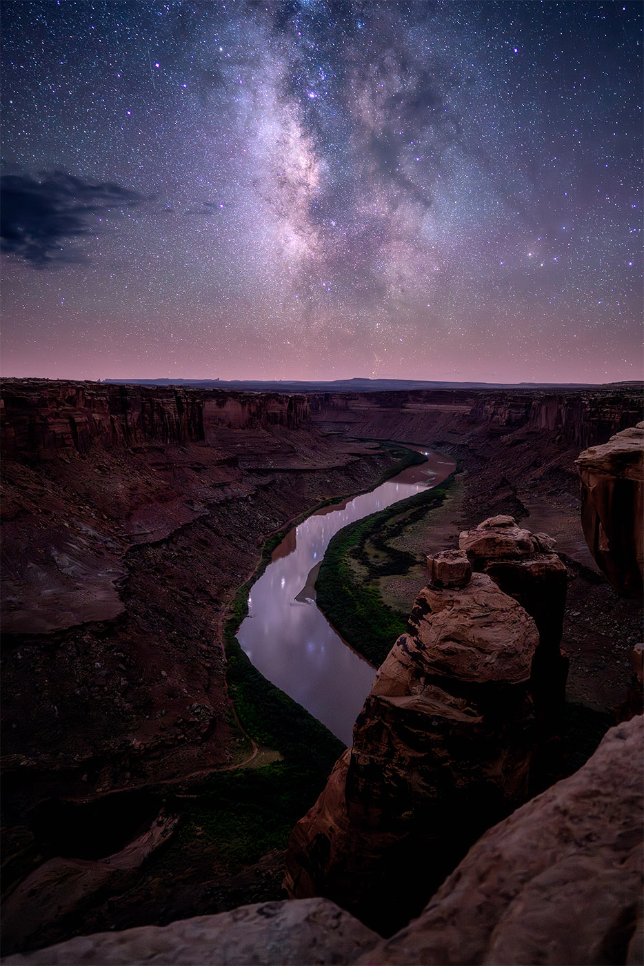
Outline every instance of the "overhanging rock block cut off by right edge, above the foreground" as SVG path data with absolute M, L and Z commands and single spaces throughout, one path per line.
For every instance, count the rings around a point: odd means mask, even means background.
M 581 476 L 581 524 L 608 581 L 642 597 L 644 581 L 644 422 L 623 430 L 576 460 Z

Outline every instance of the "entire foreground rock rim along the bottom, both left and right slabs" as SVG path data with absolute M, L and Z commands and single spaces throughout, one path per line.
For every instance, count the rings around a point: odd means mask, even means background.
M 3 966 L 142 966 L 151 957 L 194 966 L 638 966 L 641 753 L 641 716 L 612 728 L 571 778 L 476 842 L 420 918 L 389 940 L 326 899 L 302 899 L 83 936 Z

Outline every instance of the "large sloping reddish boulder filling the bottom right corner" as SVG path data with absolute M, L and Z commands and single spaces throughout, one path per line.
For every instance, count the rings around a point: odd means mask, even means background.
M 359 962 L 641 963 L 641 760 L 639 716 L 490 829 L 422 916 Z

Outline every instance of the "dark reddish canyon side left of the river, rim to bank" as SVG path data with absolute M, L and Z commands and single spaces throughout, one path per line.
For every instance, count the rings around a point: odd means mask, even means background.
M 3 401 L 9 890 L 44 859 L 82 855 L 51 828 L 65 805 L 68 822 L 96 805 L 107 848 L 121 794 L 243 757 L 222 646 L 231 598 L 271 533 L 392 461 L 325 440 L 298 397 L 8 380 Z

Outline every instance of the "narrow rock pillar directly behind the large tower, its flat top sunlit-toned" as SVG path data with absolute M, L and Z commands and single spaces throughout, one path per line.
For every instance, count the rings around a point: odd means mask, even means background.
M 546 533 L 531 533 L 513 517 L 496 516 L 462 532 L 459 545 L 473 570 L 487 574 L 534 619 L 539 631 L 530 675 L 537 720 L 531 791 L 561 778 L 568 656 L 561 651 L 567 572 L 556 543 Z

